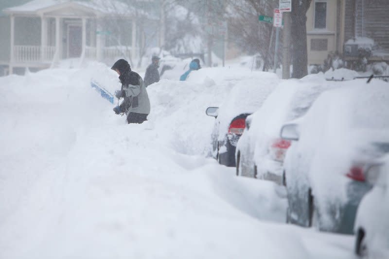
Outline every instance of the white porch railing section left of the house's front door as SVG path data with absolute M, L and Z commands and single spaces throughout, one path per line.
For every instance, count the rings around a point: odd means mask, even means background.
M 15 62 L 51 62 L 55 53 L 54 46 L 14 46 Z

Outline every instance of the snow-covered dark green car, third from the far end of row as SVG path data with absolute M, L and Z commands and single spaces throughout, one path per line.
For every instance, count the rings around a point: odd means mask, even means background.
M 389 152 L 389 91 L 383 81 L 343 83 L 322 93 L 299 123 L 285 124 L 281 137 L 295 140 L 284 160 L 287 222 L 352 234 L 371 189 L 365 174 Z

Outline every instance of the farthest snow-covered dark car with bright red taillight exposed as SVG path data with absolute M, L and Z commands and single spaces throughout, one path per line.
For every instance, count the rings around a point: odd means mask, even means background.
M 209 107 L 207 115 L 215 117 L 212 130 L 212 157 L 220 164 L 235 166 L 236 144 L 246 127 L 246 117 L 258 110 L 274 89 L 272 85 L 234 87 L 220 108 Z

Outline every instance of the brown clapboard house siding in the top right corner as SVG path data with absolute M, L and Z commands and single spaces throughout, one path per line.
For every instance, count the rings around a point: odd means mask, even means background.
M 369 37 L 389 51 L 389 1 L 346 0 L 345 40 Z

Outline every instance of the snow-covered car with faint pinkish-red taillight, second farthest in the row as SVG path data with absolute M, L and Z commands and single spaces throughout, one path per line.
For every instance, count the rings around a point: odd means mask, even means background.
M 280 138 L 280 129 L 286 121 L 305 114 L 320 93 L 335 87 L 323 78 L 317 80 L 282 82 L 261 109 L 247 118 L 236 149 L 237 176 L 282 184 L 283 159 L 290 141 Z

